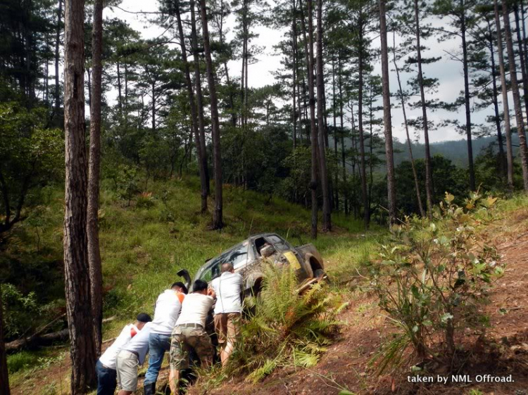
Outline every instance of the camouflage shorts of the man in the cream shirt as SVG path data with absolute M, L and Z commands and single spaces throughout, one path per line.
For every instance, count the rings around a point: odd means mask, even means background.
M 201 363 L 213 358 L 214 349 L 210 337 L 203 328 L 177 326 L 172 330 L 169 360 L 171 368 L 177 370 L 189 367 L 189 349 L 194 349 Z

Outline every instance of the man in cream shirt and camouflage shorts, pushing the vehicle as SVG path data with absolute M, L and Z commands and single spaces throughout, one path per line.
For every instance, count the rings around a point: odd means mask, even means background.
M 169 386 L 172 394 L 177 394 L 180 370 L 189 364 L 189 349 L 194 349 L 203 366 L 210 365 L 213 359 L 213 344 L 205 328 L 207 315 L 215 302 L 214 297 L 215 293 L 208 290 L 205 281 L 196 280 L 193 292 L 182 303 L 170 344 Z

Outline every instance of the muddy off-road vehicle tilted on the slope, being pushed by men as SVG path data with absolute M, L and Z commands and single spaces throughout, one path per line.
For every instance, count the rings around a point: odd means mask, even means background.
M 263 279 L 263 261 L 270 259 L 275 264 L 290 265 L 296 271 L 299 284 L 327 279 L 321 254 L 313 244 L 292 246 L 276 233 L 261 233 L 234 245 L 218 257 L 208 259 L 194 276 L 194 280 L 210 283 L 220 276 L 222 264 L 231 263 L 236 273 L 244 278 L 244 294 L 258 294 Z M 185 269 L 178 271 L 191 291 L 191 276 Z

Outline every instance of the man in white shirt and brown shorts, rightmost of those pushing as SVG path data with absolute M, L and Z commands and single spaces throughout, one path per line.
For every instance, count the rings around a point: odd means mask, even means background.
M 234 273 L 230 263 L 222 264 L 222 274 L 211 282 L 216 294 L 215 331 L 222 366 L 226 365 L 240 333 L 243 283 L 244 279 L 239 273 Z

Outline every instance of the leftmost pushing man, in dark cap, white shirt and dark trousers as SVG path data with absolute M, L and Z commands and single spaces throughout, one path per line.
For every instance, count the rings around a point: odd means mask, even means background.
M 97 395 L 113 395 L 115 387 L 117 386 L 117 370 L 115 370 L 115 362 L 117 361 L 119 351 L 124 347 L 130 339 L 142 330 L 146 323 L 151 322 L 151 317 L 146 313 L 139 313 L 136 322 L 125 325 L 121 333 L 115 339 L 103 355 L 99 358 L 95 365 L 97 374 Z

